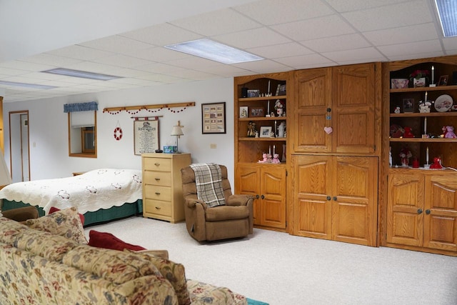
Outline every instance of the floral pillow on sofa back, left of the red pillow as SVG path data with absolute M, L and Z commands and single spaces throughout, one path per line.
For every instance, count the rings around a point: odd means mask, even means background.
M 25 224 L 32 229 L 64 236 L 79 244 L 87 244 L 78 210 L 74 207 L 56 211 L 37 219 L 29 219 Z

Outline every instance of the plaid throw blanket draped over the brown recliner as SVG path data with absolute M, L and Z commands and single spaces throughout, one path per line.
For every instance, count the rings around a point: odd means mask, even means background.
M 191 164 L 195 172 L 197 198 L 210 208 L 226 204 L 222 189 L 222 174 L 219 165 L 214 163 Z

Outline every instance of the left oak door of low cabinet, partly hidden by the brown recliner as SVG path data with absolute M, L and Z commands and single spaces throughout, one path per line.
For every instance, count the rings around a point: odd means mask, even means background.
M 253 201 L 253 223 L 259 224 L 260 222 L 260 169 L 258 166 L 251 165 L 238 165 L 236 172 L 236 189 L 235 194 L 246 194 L 254 196 Z

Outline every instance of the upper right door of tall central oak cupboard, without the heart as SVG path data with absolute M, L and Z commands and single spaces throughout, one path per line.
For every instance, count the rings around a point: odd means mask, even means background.
M 333 151 L 372 154 L 375 147 L 375 64 L 333 68 Z

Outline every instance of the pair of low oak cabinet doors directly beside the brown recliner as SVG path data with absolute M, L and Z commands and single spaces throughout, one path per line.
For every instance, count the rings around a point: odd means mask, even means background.
M 249 194 L 254 224 L 268 229 L 286 229 L 286 165 L 238 164 L 236 194 Z

